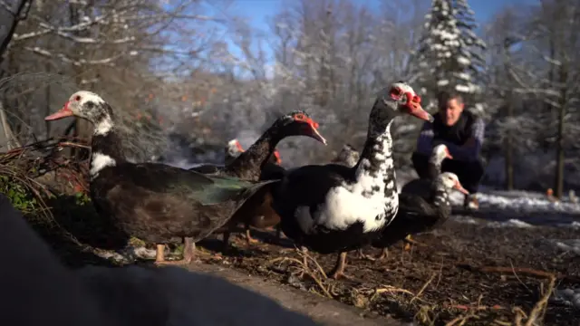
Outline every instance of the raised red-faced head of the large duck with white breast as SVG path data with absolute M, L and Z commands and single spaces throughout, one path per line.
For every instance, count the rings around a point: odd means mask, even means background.
M 420 120 L 433 121 L 433 117 L 420 105 L 420 97 L 406 82 L 394 82 L 383 89 L 373 106 L 372 120 L 392 120 L 395 116 L 409 114 Z M 379 110 L 377 110 L 379 109 Z

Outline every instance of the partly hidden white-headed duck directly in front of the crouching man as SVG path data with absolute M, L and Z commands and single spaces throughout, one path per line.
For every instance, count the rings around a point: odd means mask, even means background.
M 453 159 L 449 153 L 449 149 L 447 146 L 445 146 L 445 144 L 440 144 L 433 147 L 431 150 L 429 162 L 427 164 L 428 178 L 416 178 L 409 181 L 407 184 L 401 187 L 401 193 L 414 194 L 420 197 L 429 197 L 431 182 L 441 173 L 441 165 L 443 164 L 443 160 L 446 158 Z M 411 235 L 408 235 L 405 240 L 406 244 L 404 246 L 404 250 L 411 250 L 411 245 L 409 244 L 412 242 Z

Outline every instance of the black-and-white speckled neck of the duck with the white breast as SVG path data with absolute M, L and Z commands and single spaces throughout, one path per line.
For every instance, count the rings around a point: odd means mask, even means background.
M 354 166 L 356 183 L 363 186 L 362 196 L 372 196 L 380 192 L 384 194 L 384 197 L 396 200 L 398 197 L 391 138 L 391 124 L 394 117 L 381 117 L 381 111 L 384 109 L 378 108 L 376 104 L 371 111 L 364 149 L 358 163 Z M 369 177 L 372 177 L 372 182 L 368 180 Z

